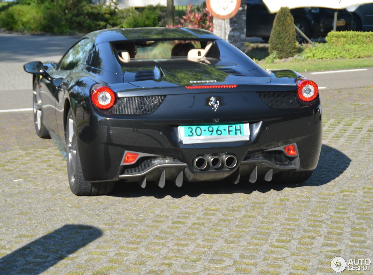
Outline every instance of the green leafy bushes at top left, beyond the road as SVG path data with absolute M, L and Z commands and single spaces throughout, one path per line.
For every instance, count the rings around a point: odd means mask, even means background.
M 0 8 L 0 28 L 21 32 L 85 33 L 113 27 L 157 27 L 165 26 L 166 17 L 166 7 L 120 9 L 116 0 L 18 0 L 13 6 Z

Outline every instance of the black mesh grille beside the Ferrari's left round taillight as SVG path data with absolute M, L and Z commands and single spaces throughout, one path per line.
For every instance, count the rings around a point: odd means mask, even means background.
M 119 97 L 112 108 L 99 110 L 114 115 L 148 115 L 155 112 L 166 96 Z

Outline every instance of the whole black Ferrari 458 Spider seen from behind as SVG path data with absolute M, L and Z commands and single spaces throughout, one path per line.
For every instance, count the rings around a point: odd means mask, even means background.
M 208 31 L 96 31 L 59 63 L 24 69 L 36 132 L 65 156 L 76 195 L 108 194 L 118 180 L 300 182 L 319 159 L 316 83 L 264 70 Z

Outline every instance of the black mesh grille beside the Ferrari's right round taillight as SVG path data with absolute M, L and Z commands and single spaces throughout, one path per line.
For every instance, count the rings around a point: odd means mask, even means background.
M 298 108 L 314 103 L 314 101 L 299 100 L 296 92 L 257 92 L 257 94 L 268 106 L 275 109 Z

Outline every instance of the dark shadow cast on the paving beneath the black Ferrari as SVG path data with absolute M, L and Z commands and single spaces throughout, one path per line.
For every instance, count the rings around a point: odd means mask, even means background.
M 165 196 L 172 196 L 173 198 L 181 198 L 183 196 L 197 197 L 201 194 L 251 194 L 254 191 L 265 193 L 270 190 L 282 191 L 285 188 L 320 186 L 338 178 L 347 169 L 350 162 L 351 159 L 341 151 L 323 144 L 316 170 L 310 179 L 301 183 L 250 183 L 247 180 L 241 180 L 235 185 L 228 180 L 213 182 L 184 181 L 181 187 L 177 187 L 172 181 L 166 181 L 164 188 L 159 188 L 155 182 L 147 182 L 146 187 L 143 189 L 135 182 L 118 182 L 110 196 L 123 198 L 137 198 L 141 196 L 164 198 Z M 338 168 L 336 169 L 336 167 Z

